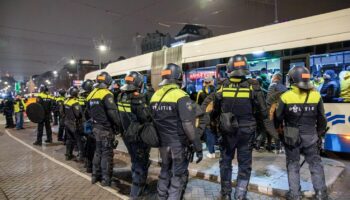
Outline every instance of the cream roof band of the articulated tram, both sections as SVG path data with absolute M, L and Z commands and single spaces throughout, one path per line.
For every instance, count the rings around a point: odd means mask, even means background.
M 345 41 L 350 39 L 349 22 L 350 8 L 194 41 L 181 47 L 182 63 Z M 152 54 L 111 63 L 102 71 L 115 76 L 150 69 Z M 85 79 L 95 79 L 98 72 L 86 74 Z

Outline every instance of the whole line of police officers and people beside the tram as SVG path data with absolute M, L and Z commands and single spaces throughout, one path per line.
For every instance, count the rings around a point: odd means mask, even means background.
M 93 184 L 110 186 L 113 149 L 118 145 L 115 136 L 120 134 L 132 163 L 130 198 L 140 199 L 147 185 L 150 149 L 155 147 L 151 143 L 159 141 L 157 198 L 161 200 L 183 198 L 189 163 L 194 155 L 196 163 L 204 157 L 203 141 L 208 158 L 218 157 L 216 150 L 220 151 L 219 199 L 231 199 L 235 154 L 238 176 L 233 196 L 247 199 L 253 149 L 281 152 L 284 146 L 289 184 L 286 198 L 301 199 L 299 160 L 304 154 L 315 199 L 328 199 L 319 155 L 326 120 L 321 94 L 312 84 L 310 72 L 305 67 L 293 67 L 288 72 L 289 90 L 280 73 L 272 76 L 271 83 L 264 71 L 257 79 L 248 78 L 249 73 L 246 58 L 233 56 L 227 64 L 228 78 L 217 86 L 212 77 L 205 78 L 203 89 L 192 99 L 181 88 L 182 68 L 173 63 L 161 71 L 157 91 L 150 84 L 145 86 L 143 75 L 136 71 L 126 74 L 122 86 L 101 72 L 96 80 L 84 81 L 81 88 L 72 86 L 67 92 L 58 91 L 58 97 L 51 96 L 42 85 L 37 103 L 45 116 L 38 123 L 34 145 L 42 145 L 44 126 L 45 143 L 52 142 L 50 119 L 54 116 L 54 123 L 59 126 L 58 141 L 66 145 L 66 160 L 84 162 Z M 14 109 L 22 112 L 22 117 L 16 114 L 17 122 L 22 123 L 18 129 L 23 128 L 25 110 L 21 101 L 16 98 L 19 109 Z

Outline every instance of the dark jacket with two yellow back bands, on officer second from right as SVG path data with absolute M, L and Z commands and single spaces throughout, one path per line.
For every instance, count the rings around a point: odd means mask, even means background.
M 240 127 L 256 126 L 257 120 L 266 122 L 267 107 L 259 82 L 246 78 L 225 80 L 215 95 L 213 117 L 217 119 L 227 112 L 236 116 Z

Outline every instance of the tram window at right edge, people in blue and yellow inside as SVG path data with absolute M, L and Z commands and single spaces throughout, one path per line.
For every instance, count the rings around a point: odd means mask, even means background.
M 350 51 L 310 56 L 310 70 L 325 103 L 350 102 Z

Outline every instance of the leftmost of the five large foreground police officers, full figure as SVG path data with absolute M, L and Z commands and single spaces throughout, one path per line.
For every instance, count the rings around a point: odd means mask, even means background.
M 97 78 L 96 88 L 87 97 L 96 150 L 93 159 L 91 182 L 101 180 L 102 186 L 110 186 L 113 170 L 113 130 L 120 122 L 113 94 L 107 89 L 112 77 L 101 72 Z

